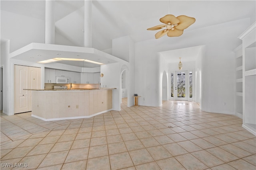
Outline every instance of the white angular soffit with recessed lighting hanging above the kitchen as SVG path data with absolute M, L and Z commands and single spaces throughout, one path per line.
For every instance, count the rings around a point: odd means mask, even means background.
M 30 43 L 29 45 L 26 45 L 25 47 L 22 47 L 10 53 L 10 58 L 33 63 L 38 63 L 40 61 L 50 60 L 54 58 L 86 59 L 102 64 L 111 64 L 122 61 L 122 59 L 119 59 L 94 48 L 44 43 Z M 61 60 L 56 61 L 56 63 L 89 68 L 100 66 L 99 64 L 88 63 L 85 61 Z M 45 64 L 45 66 L 47 67 L 47 63 Z

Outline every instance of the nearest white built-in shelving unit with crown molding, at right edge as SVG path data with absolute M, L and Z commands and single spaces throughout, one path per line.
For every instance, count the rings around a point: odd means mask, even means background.
M 238 38 L 242 39 L 243 127 L 256 135 L 256 23 Z

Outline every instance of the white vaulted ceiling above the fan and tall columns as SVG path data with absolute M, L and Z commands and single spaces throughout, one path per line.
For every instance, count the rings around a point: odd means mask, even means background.
M 129 35 L 134 42 L 154 39 L 157 31 L 146 29 L 160 25 L 159 19 L 166 14 L 196 18 L 196 22 L 185 29 L 184 34 L 193 29 L 244 18 L 255 20 L 255 2 L 255 0 L 93 0 L 92 47 L 98 50 L 111 49 L 112 39 L 126 35 Z M 1 0 L 0 3 L 1 10 L 45 20 L 44 0 Z M 55 21 L 56 44 L 82 47 L 83 0 L 55 0 Z M 1 24 L 1 27 L 4 25 Z M 3 39 L 10 37 L 6 37 L 1 31 L 1 41 Z

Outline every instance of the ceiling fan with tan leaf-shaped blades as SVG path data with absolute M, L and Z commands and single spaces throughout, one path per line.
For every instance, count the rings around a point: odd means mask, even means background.
M 168 35 L 168 37 L 178 37 L 183 34 L 183 30 L 192 25 L 196 19 L 188 16 L 178 16 L 175 17 L 174 15 L 168 14 L 162 18 L 160 18 L 160 21 L 164 24 L 157 25 L 151 28 L 148 28 L 147 30 L 157 30 L 162 29 L 156 33 L 155 37 L 156 39 Z

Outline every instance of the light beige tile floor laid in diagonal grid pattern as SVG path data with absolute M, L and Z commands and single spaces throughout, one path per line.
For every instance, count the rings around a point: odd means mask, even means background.
M 1 113 L 0 168 L 255 170 L 256 137 L 241 126 L 242 119 L 201 111 L 194 102 L 126 107 L 125 98 L 121 111 L 88 119 Z

